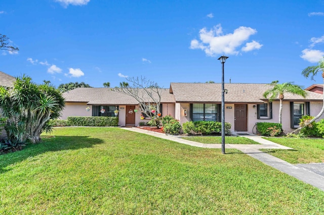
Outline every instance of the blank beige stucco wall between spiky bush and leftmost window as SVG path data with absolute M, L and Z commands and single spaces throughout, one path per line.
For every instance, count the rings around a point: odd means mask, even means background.
M 62 111 L 61 120 L 66 120 L 67 117 L 91 117 L 92 105 L 89 105 L 90 111 L 87 111 L 88 104 L 86 102 L 66 102 Z

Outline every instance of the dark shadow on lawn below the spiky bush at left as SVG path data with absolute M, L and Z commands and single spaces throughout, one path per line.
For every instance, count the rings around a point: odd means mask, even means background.
M 0 174 L 9 170 L 6 167 L 22 162 L 28 157 L 34 157 L 48 151 L 75 150 L 80 148 L 91 148 L 93 145 L 101 144 L 104 141 L 89 136 L 56 136 L 43 138 L 42 142 L 27 144 L 21 151 L 15 151 L 0 155 Z

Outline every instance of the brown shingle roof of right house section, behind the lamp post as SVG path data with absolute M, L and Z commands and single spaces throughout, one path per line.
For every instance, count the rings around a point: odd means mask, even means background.
M 268 84 L 242 84 L 225 83 L 225 102 L 227 103 L 263 103 L 263 93 L 271 86 Z M 170 93 L 174 94 L 176 102 L 221 102 L 222 86 L 220 83 L 171 83 Z M 318 93 L 307 91 L 306 98 L 302 96 L 285 93 L 284 100 L 292 101 L 321 101 L 322 96 Z

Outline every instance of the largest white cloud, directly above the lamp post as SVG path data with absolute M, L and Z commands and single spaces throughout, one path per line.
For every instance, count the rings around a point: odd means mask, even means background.
M 233 33 L 223 34 L 220 24 L 208 31 L 206 28 L 200 29 L 200 41 L 193 39 L 190 43 L 191 49 L 204 50 L 206 55 L 214 56 L 219 54 L 238 55 L 237 50 L 244 44 L 251 35 L 257 33 L 256 29 L 240 26 Z M 245 51 L 259 49 L 262 44 L 258 42 L 246 43 Z

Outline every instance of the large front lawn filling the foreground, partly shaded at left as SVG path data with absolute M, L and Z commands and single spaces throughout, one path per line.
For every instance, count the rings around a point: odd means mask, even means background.
M 324 192 L 228 149 L 58 128 L 0 156 L 0 214 L 323 214 Z

